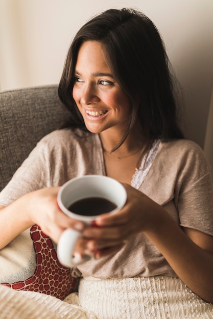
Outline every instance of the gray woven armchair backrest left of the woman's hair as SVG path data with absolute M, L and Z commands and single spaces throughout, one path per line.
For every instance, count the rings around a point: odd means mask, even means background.
M 67 116 L 57 89 L 53 85 L 0 93 L 0 191 L 36 143 Z

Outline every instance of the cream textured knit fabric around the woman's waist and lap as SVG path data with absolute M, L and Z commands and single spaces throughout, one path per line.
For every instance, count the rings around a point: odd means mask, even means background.
M 80 282 L 79 301 L 99 319 L 213 318 L 213 305 L 175 277 L 85 277 Z

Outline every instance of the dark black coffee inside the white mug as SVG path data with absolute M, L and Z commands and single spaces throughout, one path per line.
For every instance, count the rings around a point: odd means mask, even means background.
M 82 216 L 97 216 L 105 214 L 117 206 L 110 200 L 102 197 L 88 197 L 72 203 L 68 210 Z

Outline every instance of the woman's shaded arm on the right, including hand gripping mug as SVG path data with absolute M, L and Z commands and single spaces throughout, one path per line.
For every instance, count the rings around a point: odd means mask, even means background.
M 126 189 L 128 201 L 120 212 L 102 215 L 96 221 L 100 228 L 84 230 L 85 237 L 96 238 L 87 248 L 101 257 L 117 251 L 122 241 L 143 231 L 179 278 L 202 299 L 213 303 L 213 236 L 182 230 L 163 207 L 129 185 Z M 107 246 L 110 250 L 102 250 Z

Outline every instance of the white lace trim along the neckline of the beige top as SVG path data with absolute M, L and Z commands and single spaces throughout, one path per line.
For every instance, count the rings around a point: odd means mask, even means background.
M 131 186 L 135 189 L 138 189 L 140 187 L 145 177 L 147 176 L 147 173 L 149 172 L 152 163 L 154 162 L 155 156 L 157 154 L 160 141 L 160 139 L 154 140 L 150 151 L 142 159 L 139 169 L 136 168 L 136 171 L 131 181 Z

